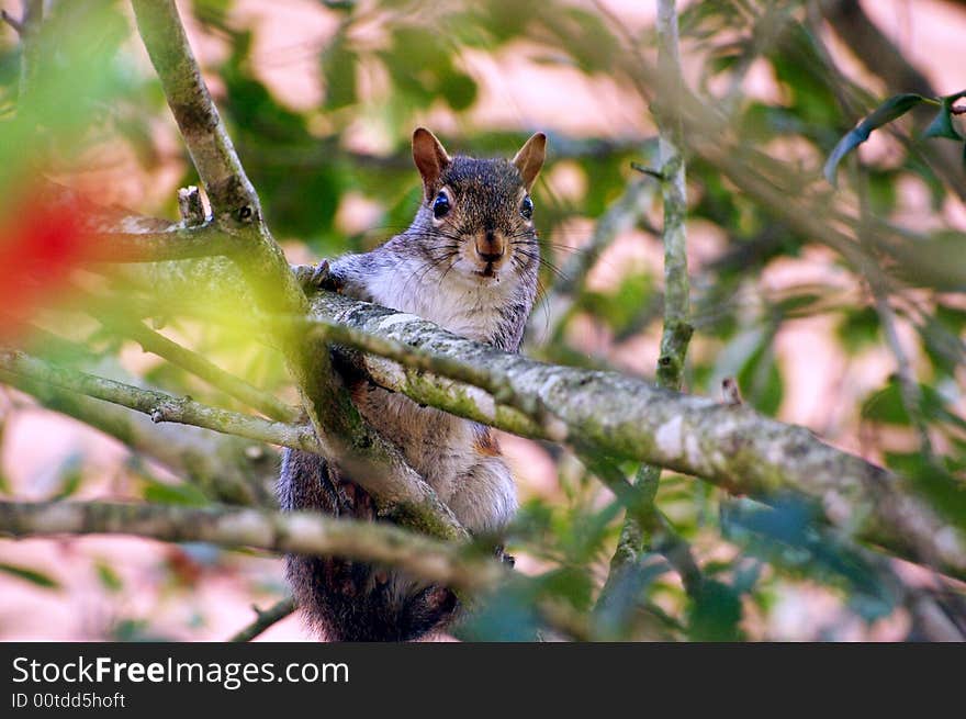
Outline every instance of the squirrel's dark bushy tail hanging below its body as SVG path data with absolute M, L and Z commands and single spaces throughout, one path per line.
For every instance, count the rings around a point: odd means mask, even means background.
M 287 512 L 375 517 L 364 491 L 334 479 L 322 457 L 297 450 L 283 453 L 279 499 Z M 366 562 L 290 554 L 285 569 L 296 605 L 313 629 L 329 641 L 417 639 L 445 626 L 457 610 L 450 589 Z

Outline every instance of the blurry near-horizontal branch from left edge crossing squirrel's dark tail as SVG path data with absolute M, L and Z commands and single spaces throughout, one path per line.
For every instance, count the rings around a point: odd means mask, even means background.
M 467 592 L 492 588 L 508 571 L 498 562 L 386 523 L 306 513 L 193 508 L 102 502 L 0 502 L 0 535 L 137 535 L 271 552 L 324 554 L 375 562 L 426 582 Z

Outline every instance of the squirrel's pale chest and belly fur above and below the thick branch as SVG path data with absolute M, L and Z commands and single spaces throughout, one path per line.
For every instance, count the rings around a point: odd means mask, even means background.
M 333 269 L 342 278 L 346 294 L 481 341 L 506 334 L 507 318 L 501 308 L 513 302 L 518 290 L 509 280 L 501 287 L 472 278 L 443 278 L 445 270 L 427 270 L 417 258 L 390 266 L 378 252 L 340 258 Z M 353 400 L 362 416 L 396 443 L 468 529 L 494 530 L 509 520 L 516 510 L 516 491 L 492 430 L 368 383 L 353 389 Z

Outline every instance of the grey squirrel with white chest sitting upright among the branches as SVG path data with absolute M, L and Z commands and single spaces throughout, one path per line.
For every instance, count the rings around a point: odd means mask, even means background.
M 540 248 L 529 192 L 546 144 L 537 133 L 513 160 L 450 157 L 433 133 L 417 128 L 413 159 L 423 199 L 413 223 L 370 252 L 336 259 L 316 281 L 518 351 L 537 295 Z M 516 513 L 516 487 L 488 427 L 364 379 L 347 382 L 363 418 L 400 448 L 471 535 L 506 526 Z M 350 480 L 323 457 L 287 449 L 278 486 L 282 509 L 374 520 L 371 497 Z M 285 564 L 296 605 L 329 641 L 417 639 L 442 629 L 458 610 L 449 588 L 402 572 L 333 557 L 290 554 Z

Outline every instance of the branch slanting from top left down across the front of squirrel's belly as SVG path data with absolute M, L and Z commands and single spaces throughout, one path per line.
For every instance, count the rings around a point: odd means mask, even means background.
M 161 80 L 168 105 L 212 203 L 218 227 L 235 236 L 234 255 L 261 311 L 302 316 L 307 300 L 284 254 L 265 225 L 258 196 L 245 175 L 218 112 L 201 78 L 173 0 L 132 0 L 138 31 Z M 329 363 L 327 348 L 306 341 L 292 327 L 273 327 L 324 453 L 349 479 L 369 481 L 381 513 L 409 526 L 457 538 L 465 530 L 406 463 L 402 452 L 361 417 Z M 394 506 L 391 498 L 415 504 Z

